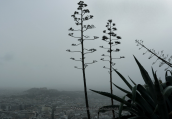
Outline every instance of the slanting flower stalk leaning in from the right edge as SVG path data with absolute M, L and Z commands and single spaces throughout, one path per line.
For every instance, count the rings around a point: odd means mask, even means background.
M 143 41 L 142 41 L 142 40 L 135 40 L 135 41 L 136 41 L 136 43 L 138 43 L 137 46 L 141 45 L 142 47 L 146 48 L 146 47 L 143 45 Z M 139 50 L 140 50 L 142 47 L 140 47 Z M 161 66 L 164 65 L 164 64 L 167 64 L 168 67 L 165 69 L 165 71 L 166 71 L 169 67 L 172 68 L 172 64 L 170 63 L 170 61 L 171 61 L 171 59 L 172 59 L 172 55 L 168 58 L 168 61 L 166 61 L 168 55 L 165 57 L 164 54 L 163 54 L 163 50 L 161 51 L 161 54 L 159 55 L 159 52 L 156 53 L 154 49 L 148 49 L 148 48 L 146 48 L 146 49 L 147 49 L 147 51 L 146 51 L 145 53 L 143 53 L 143 55 L 146 54 L 147 52 L 152 53 L 152 54 L 149 56 L 148 59 L 151 59 L 153 56 L 156 56 L 156 57 L 157 57 L 157 60 L 156 60 L 155 62 L 153 62 L 152 65 L 155 64 L 155 63 L 160 59 L 160 60 L 162 60 L 162 61 L 160 62 L 159 67 L 161 67 Z M 159 55 L 159 56 L 158 56 L 158 55 Z

